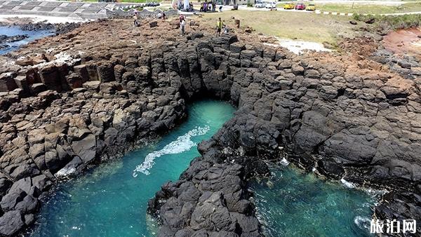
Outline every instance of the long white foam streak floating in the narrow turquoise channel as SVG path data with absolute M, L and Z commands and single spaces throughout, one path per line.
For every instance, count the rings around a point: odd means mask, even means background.
M 159 151 L 153 151 L 145 157 L 145 161 L 142 164 L 136 166 L 135 170 L 133 170 L 133 177 L 138 176 L 138 172 L 142 172 L 145 175 L 149 175 L 149 170 L 154 166 L 154 161 L 156 158 L 159 158 L 163 155 L 167 154 L 180 154 L 184 151 L 188 151 L 192 147 L 196 147 L 196 143 L 192 141 L 192 137 L 205 135 L 209 131 L 209 126 L 205 126 L 203 128 L 196 127 L 192 130 L 189 130 L 188 133 L 177 137 L 177 140 L 167 144 L 163 149 Z

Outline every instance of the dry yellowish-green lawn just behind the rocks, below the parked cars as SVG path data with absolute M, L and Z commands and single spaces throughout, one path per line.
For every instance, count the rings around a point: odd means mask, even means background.
M 234 29 L 232 17 L 241 21 L 241 27 L 252 27 L 262 34 L 332 45 L 335 45 L 338 36 L 355 33 L 348 17 L 284 11 L 226 11 L 205 14 L 202 21 L 214 27 L 216 20 L 222 18 Z

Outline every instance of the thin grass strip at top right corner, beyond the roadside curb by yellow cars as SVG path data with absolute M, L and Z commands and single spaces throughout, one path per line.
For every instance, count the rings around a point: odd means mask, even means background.
M 339 13 L 358 13 L 358 14 L 385 14 L 385 13 L 406 13 L 421 11 L 421 1 L 407 3 L 399 6 L 386 5 L 368 5 L 359 4 L 316 4 L 316 9 L 321 11 L 339 12 Z

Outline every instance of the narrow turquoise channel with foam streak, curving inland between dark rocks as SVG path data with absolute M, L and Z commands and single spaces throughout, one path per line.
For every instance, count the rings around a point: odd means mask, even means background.
M 31 236 L 150 236 L 154 222 L 147 219 L 147 201 L 162 184 L 178 180 L 199 156 L 196 144 L 215 134 L 234 110 L 225 102 L 195 102 L 187 121 L 159 142 L 62 184 Z

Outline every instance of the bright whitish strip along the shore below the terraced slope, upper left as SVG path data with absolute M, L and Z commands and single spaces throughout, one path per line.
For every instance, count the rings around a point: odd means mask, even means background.
M 66 22 L 83 22 L 82 18 L 62 18 L 42 15 L 0 15 L 0 22 L 16 23 L 16 22 L 48 22 L 51 24 L 66 23 Z

